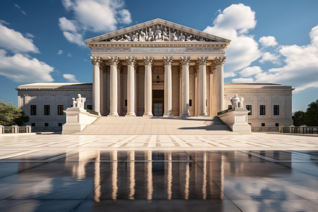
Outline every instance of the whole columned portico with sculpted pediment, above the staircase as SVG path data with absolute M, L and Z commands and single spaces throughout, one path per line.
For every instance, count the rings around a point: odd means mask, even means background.
M 93 110 L 101 115 L 211 116 L 226 109 L 223 65 L 230 40 L 154 19 L 86 43 Z

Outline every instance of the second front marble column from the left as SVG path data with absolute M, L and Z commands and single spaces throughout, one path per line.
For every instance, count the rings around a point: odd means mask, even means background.
M 118 57 L 109 56 L 110 62 L 110 108 L 109 115 L 118 116 L 117 112 L 117 65 Z

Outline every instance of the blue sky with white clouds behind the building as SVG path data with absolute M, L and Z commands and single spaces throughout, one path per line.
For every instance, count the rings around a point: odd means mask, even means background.
M 0 100 L 34 82 L 91 82 L 84 40 L 155 18 L 231 39 L 225 82 L 291 85 L 293 112 L 318 99 L 318 1 L 2 0 Z

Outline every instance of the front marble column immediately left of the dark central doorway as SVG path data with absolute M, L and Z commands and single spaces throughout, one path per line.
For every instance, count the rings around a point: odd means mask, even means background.
M 151 67 L 153 64 L 153 58 L 150 56 L 144 56 L 145 63 L 145 109 L 143 116 L 152 115 L 152 76 Z

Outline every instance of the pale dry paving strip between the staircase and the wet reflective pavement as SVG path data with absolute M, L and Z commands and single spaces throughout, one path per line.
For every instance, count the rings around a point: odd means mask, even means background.
M 252 135 L 61 135 L 0 136 L 2 154 L 36 149 L 171 149 L 171 150 L 318 150 L 318 137 L 252 133 Z M 7 149 L 7 152 L 4 150 Z M 6 157 L 2 155 L 0 157 Z

